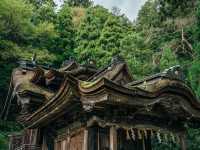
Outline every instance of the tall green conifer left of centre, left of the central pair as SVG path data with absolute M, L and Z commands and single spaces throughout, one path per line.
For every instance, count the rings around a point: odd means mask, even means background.
M 99 58 L 98 40 L 104 24 L 111 14 L 102 6 L 88 8 L 85 17 L 77 30 L 76 53 L 78 60 L 85 62 L 90 58 Z

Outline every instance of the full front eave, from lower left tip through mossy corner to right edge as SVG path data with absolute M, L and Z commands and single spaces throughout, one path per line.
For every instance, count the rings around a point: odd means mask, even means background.
M 167 77 L 160 78 L 159 81 L 162 81 L 165 85 L 151 92 L 139 87 L 120 86 L 106 78 L 101 78 L 95 82 L 85 82 L 68 76 L 59 92 L 28 117 L 26 124 L 29 127 L 45 125 L 64 113 L 73 111 L 74 104 L 79 104 L 79 107 L 82 106 L 86 112 L 88 111 L 87 106 L 92 111 L 95 107 L 113 105 L 128 106 L 134 109 L 142 108 L 144 109 L 142 113 L 151 115 L 150 111 L 154 105 L 165 105 L 165 103 L 168 105 L 169 103 L 172 106 L 166 106 L 168 113 L 172 112 L 176 117 L 186 120 L 188 123 L 200 122 L 200 104 L 190 88 L 179 80 L 171 80 Z M 184 112 L 184 114 L 181 114 L 181 112 Z

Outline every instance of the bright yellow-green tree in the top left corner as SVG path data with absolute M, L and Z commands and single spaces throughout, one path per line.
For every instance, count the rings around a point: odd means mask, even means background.
M 32 6 L 23 0 L 0 1 L 0 38 L 23 43 L 29 39 Z

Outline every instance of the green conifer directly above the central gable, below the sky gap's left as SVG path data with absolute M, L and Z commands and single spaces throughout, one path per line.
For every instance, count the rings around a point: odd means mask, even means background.
M 125 23 L 125 24 L 124 24 Z M 104 24 L 101 36 L 98 41 L 98 47 L 104 57 L 100 62 L 108 63 L 113 55 L 119 54 L 121 40 L 128 32 L 129 25 L 124 22 L 122 17 L 110 15 Z

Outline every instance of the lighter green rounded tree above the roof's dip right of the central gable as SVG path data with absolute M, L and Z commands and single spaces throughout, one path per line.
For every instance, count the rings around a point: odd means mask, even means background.
M 140 79 L 153 73 L 153 51 L 145 45 L 140 33 L 127 32 L 121 40 L 120 53 L 128 62 L 135 78 Z

